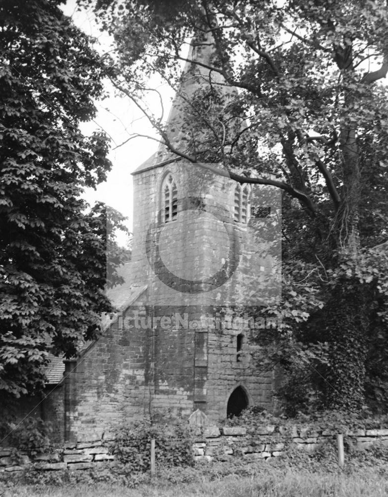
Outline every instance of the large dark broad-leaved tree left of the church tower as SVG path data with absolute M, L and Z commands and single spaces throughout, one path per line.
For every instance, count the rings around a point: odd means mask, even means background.
M 0 2 L 0 392 L 44 384 L 110 310 L 106 213 L 84 186 L 106 177 L 108 141 L 83 136 L 103 96 L 99 56 L 60 0 Z M 94 314 L 95 315 L 95 314 Z

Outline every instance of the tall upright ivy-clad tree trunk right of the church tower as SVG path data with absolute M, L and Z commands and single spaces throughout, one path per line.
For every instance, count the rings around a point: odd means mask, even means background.
M 352 120 L 357 104 L 351 46 L 337 48 L 336 61 L 342 72 L 344 97 L 340 129 L 340 160 L 343 170 L 342 202 L 335 219 L 339 263 L 349 257 L 356 263 L 360 249 L 360 166 L 357 125 Z M 354 410 L 364 403 L 365 337 L 371 303 L 368 285 L 356 278 L 342 278 L 325 306 L 324 337 L 330 345 L 326 371 L 325 402 L 332 409 Z

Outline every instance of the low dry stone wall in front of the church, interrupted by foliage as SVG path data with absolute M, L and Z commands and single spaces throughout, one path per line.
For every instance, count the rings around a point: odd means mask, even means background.
M 199 428 L 198 428 L 199 431 Z M 308 427 L 289 428 L 268 424 L 255 431 L 243 426 L 206 426 L 195 436 L 195 461 L 228 461 L 234 457 L 247 461 L 280 456 L 288 446 L 312 452 L 320 444 L 334 441 L 337 432 Z M 388 428 L 356 429 L 343 433 L 348 444 L 365 449 L 381 442 L 388 445 Z M 88 470 L 116 464 L 109 453 L 111 440 L 94 440 L 67 444 L 50 453 L 40 450 L 16 451 L 0 448 L 0 473 L 17 473 L 25 469 L 38 471 Z

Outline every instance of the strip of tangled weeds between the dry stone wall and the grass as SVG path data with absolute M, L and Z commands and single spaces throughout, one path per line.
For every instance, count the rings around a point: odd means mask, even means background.
M 335 447 L 326 444 L 314 454 L 307 454 L 296 448 L 288 449 L 282 456 L 251 463 L 239 459 L 226 462 L 195 463 L 194 466 L 157 466 L 157 473 L 151 479 L 149 471 L 135 472 L 128 465 L 79 471 L 39 472 L 32 469 L 22 475 L 0 475 L 0 495 L 20 485 L 41 487 L 63 487 L 72 485 L 107 484 L 135 489 L 143 486 L 164 486 L 205 484 L 228 478 L 255 479 L 271 482 L 282 481 L 287 474 L 310 475 L 310 478 L 352 478 L 357 475 L 374 474 L 375 478 L 388 481 L 388 448 L 376 444 L 364 451 L 347 453 L 345 468 L 338 468 Z M 330 476 L 331 475 L 331 476 Z

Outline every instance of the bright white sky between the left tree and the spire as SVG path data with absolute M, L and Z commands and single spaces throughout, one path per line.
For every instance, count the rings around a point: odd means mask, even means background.
M 110 50 L 111 38 L 107 34 L 102 34 L 95 22 L 95 15 L 90 8 L 87 11 L 77 11 L 75 0 L 68 0 L 62 6 L 66 15 L 71 16 L 73 22 L 86 34 L 97 38 L 95 49 L 103 54 Z M 108 83 L 107 83 L 108 84 Z M 169 106 L 172 91 L 167 85 L 159 86 L 158 89 L 163 94 L 164 106 Z M 155 86 L 154 86 L 155 87 Z M 96 190 L 88 188 L 85 191 L 85 199 L 93 204 L 95 201 L 102 201 L 117 209 L 127 216 L 128 227 L 132 228 L 133 197 L 132 197 L 132 176 L 130 175 L 140 164 L 148 159 L 157 149 L 158 143 L 155 140 L 136 137 L 128 143 L 115 149 L 118 145 L 129 138 L 132 133 L 159 138 L 149 124 L 148 120 L 141 114 L 126 96 L 115 94 L 110 88 L 111 96 L 102 102 L 97 102 L 98 114 L 95 122 L 85 123 L 81 129 L 85 134 L 90 134 L 98 127 L 104 129 L 112 138 L 112 149 L 109 159 L 113 163 L 112 170 L 108 174 L 107 181 L 98 185 Z M 166 109 L 166 110 L 167 110 Z M 158 109 L 155 109 L 157 112 Z M 125 237 L 118 237 L 120 245 L 126 243 Z

